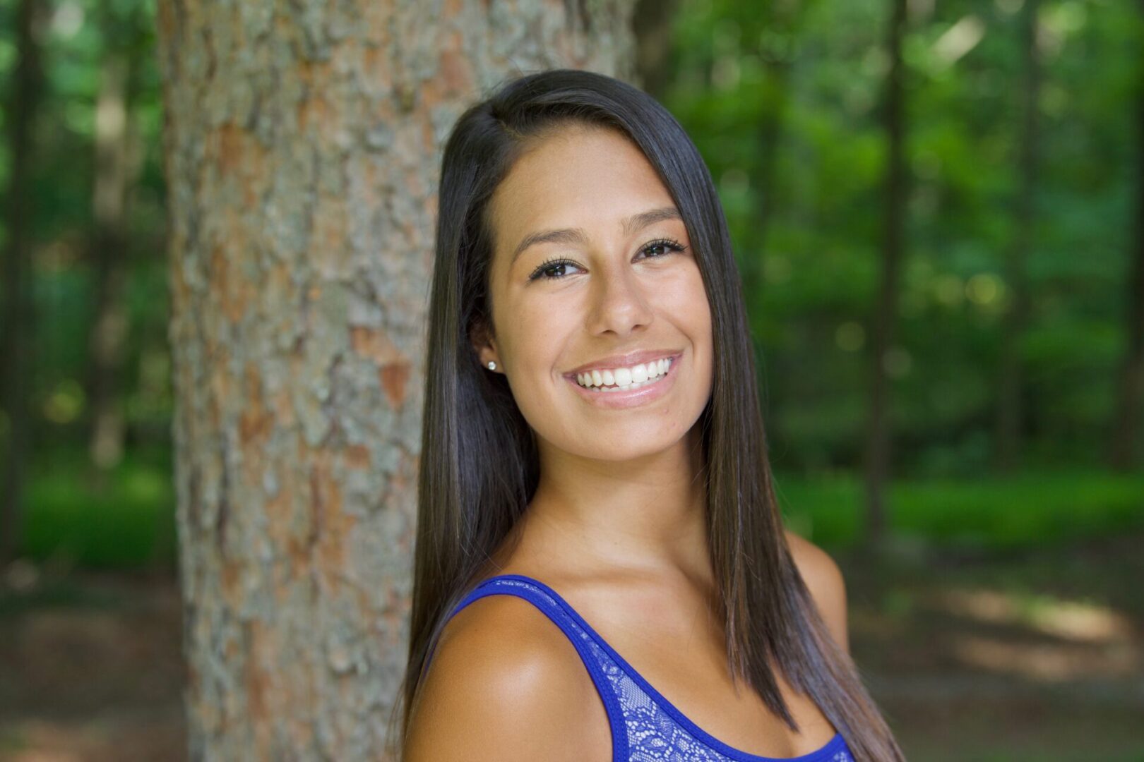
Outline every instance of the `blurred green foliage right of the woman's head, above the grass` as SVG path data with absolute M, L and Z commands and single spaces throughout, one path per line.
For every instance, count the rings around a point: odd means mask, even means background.
M 858 463 L 882 244 L 888 7 L 690 0 L 676 18 L 662 97 L 710 166 L 742 272 L 761 265 L 748 308 L 784 468 Z M 908 443 L 898 466 L 916 476 L 991 463 L 1020 189 L 1019 8 L 932 3 L 904 43 L 909 204 L 890 417 Z M 1043 438 L 1028 448 L 1038 468 L 1077 457 L 1097 466 L 1112 423 L 1142 183 L 1142 18 L 1133 3 L 1041 3 L 1032 314 L 1018 346 L 1026 433 Z M 769 122 L 778 130 L 766 144 Z

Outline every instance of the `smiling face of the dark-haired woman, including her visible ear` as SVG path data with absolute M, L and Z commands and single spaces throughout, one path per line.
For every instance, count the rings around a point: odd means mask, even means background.
M 494 335 L 477 348 L 541 448 L 623 460 L 678 443 L 710 396 L 710 308 L 686 227 L 639 149 L 612 129 L 561 130 L 490 203 Z

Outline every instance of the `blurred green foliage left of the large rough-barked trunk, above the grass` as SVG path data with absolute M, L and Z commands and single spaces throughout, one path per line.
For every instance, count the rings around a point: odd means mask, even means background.
M 125 129 L 134 130 L 128 161 L 127 242 L 116 252 L 125 270 L 128 327 L 121 400 L 132 425 L 166 427 L 170 390 L 154 369 L 167 363 L 167 283 L 164 240 L 166 189 L 154 7 L 140 0 L 66 0 L 49 3 L 40 59 L 46 87 L 31 126 L 34 361 L 32 409 L 37 441 L 81 447 L 89 423 L 85 398 L 96 307 L 92 262 L 96 103 L 105 66 L 127 67 Z M 15 3 L 0 3 L 0 93 L 7 97 L 16 64 Z M 0 123 L 7 101 L 0 102 Z M 11 157 L 0 142 L 0 193 Z M 0 208 L 3 202 L 0 199 Z M 0 241 L 6 240 L 0 219 Z M 61 400 L 66 400 L 61 404 Z M 158 425 L 157 425 L 157 422 Z M 150 436 L 148 433 L 145 436 Z M 0 442 L 2 449 L 2 442 Z

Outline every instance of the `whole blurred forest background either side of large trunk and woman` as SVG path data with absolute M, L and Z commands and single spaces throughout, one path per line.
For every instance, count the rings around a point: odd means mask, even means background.
M 635 29 L 728 214 L 784 512 L 907 755 L 1144 760 L 1144 3 Z M 0 0 L 0 757 L 178 759 L 154 9 Z

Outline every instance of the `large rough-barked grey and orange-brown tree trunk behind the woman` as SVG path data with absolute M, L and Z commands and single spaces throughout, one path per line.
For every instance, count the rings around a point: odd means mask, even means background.
M 440 149 L 630 0 L 165 0 L 192 759 L 380 759 L 407 639 Z

